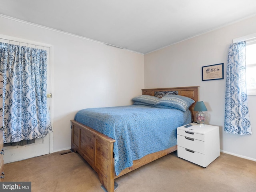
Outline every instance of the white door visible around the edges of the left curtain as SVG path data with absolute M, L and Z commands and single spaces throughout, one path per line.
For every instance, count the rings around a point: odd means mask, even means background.
M 50 93 L 50 46 L 44 47 L 45 45 L 40 46 L 40 43 L 38 42 L 31 42 L 31 41 L 26 42 L 26 40 L 20 40 L 20 39 L 17 40 L 17 38 L 15 38 L 14 41 L 12 41 L 12 39 L 10 39 L 9 41 L 9 40 L 3 40 L 1 38 L 2 37 L 0 35 L 1 42 L 6 42 L 10 44 L 19 44 L 20 46 L 30 46 L 30 47 L 36 47 L 36 48 L 47 50 L 48 52 L 47 92 Z M 4 36 L 4 38 L 6 38 L 6 36 Z M 12 37 L 9 37 L 9 38 L 12 38 Z M 48 109 L 50 109 L 50 98 L 47 99 L 47 106 L 48 106 Z M 47 134 L 47 136 L 44 138 L 36 139 L 35 143 L 33 144 L 28 144 L 24 146 L 5 146 L 4 147 L 4 163 L 20 161 L 20 160 L 24 160 L 24 159 L 28 159 L 36 156 L 49 154 L 50 146 L 51 146 L 50 142 L 52 141 L 52 139 L 50 139 L 52 138 L 51 134 L 52 133 Z

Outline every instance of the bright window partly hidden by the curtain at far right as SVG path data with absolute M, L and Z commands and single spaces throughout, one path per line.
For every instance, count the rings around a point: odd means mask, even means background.
M 247 95 L 256 95 L 256 42 L 246 42 Z

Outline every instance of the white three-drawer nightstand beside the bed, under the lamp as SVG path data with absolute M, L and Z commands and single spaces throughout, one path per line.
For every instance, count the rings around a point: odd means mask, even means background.
M 206 167 L 220 156 L 220 128 L 190 124 L 177 128 L 178 157 Z

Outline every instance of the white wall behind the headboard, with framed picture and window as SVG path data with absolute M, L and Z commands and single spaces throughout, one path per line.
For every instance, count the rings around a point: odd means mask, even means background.
M 189 29 L 188 29 L 189 30 Z M 200 86 L 207 123 L 220 126 L 222 151 L 256 160 L 256 96 L 248 96 L 252 135 L 224 132 L 226 66 L 232 39 L 256 33 L 256 17 L 179 42 L 144 56 L 145 88 Z M 224 80 L 202 81 L 202 66 L 224 63 Z

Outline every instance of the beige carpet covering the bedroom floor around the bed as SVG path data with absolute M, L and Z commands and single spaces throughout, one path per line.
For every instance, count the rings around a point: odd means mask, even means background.
M 31 181 L 32 192 L 103 192 L 78 153 L 60 153 L 4 164 L 4 181 Z M 115 192 L 255 192 L 256 162 L 221 153 L 202 168 L 173 152 L 116 182 Z

